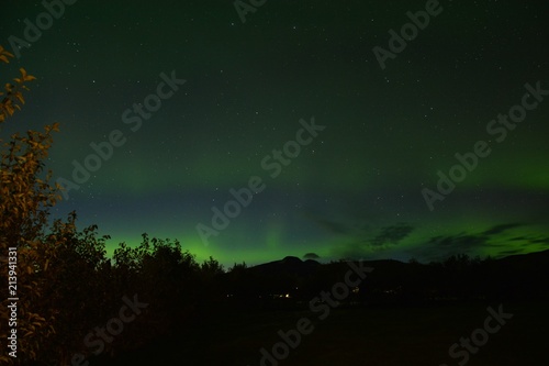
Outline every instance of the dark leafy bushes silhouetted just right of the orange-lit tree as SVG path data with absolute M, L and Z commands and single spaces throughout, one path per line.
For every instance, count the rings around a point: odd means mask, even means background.
M 25 258 L 19 265 L 15 363 L 80 365 L 72 358 L 139 347 L 221 296 L 224 273 L 216 260 L 199 264 L 179 242 L 146 234 L 139 246 L 120 244 L 109 258 L 109 236 L 99 236 L 94 225 L 78 231 L 75 221 L 71 213 L 67 222 L 56 221 L 40 245 L 18 248 Z M 33 253 L 30 267 L 27 253 Z M 35 322 L 26 323 L 27 313 Z

